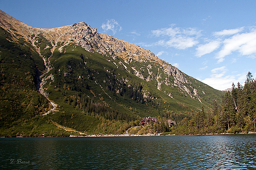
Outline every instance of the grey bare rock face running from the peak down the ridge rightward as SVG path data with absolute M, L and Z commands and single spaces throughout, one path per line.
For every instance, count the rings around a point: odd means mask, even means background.
M 90 25 L 86 24 L 85 22 L 70 25 L 68 32 L 65 34 L 71 35 L 71 38 L 75 41 L 77 45 L 83 47 L 89 52 L 109 54 L 113 56 L 114 60 L 117 59 L 118 56 L 120 56 L 120 54 L 122 53 L 129 54 L 126 59 L 124 58 L 126 64 L 130 64 L 132 61 L 147 63 L 152 60 L 156 61 L 157 59 L 155 54 L 150 50 L 143 49 L 139 46 L 131 45 L 123 40 L 114 38 L 106 34 L 99 34 L 96 28 L 93 29 Z M 128 49 L 126 49 L 126 47 L 128 47 Z M 144 75 L 143 70 L 139 71 L 138 69 L 136 70 L 132 67 L 134 71 L 133 73 L 137 77 L 144 79 L 146 81 L 152 81 L 153 79 L 156 79 L 158 82 L 157 88 L 159 90 L 161 90 L 161 84 L 164 83 L 166 85 L 170 85 L 171 87 L 179 87 L 183 91 L 183 93 L 191 97 L 192 95 L 198 96 L 196 90 L 194 90 L 193 92 L 190 91 L 190 87 L 188 85 L 190 82 L 185 77 L 185 74 L 182 73 L 176 67 L 164 62 L 161 67 L 165 74 L 167 74 L 168 76 L 173 76 L 173 83 L 170 83 L 166 79 L 161 80 L 161 75 L 158 75 L 158 73 L 153 73 L 153 71 L 150 71 L 150 69 L 152 69 L 152 65 L 148 65 L 146 68 L 148 70 L 149 75 Z

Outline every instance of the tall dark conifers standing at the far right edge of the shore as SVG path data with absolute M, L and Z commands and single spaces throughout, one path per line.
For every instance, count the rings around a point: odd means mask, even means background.
M 247 74 L 244 86 L 239 82 L 237 87 L 232 84 L 231 93 L 227 92 L 223 97 L 220 117 L 224 129 L 256 129 L 256 80 L 252 73 Z

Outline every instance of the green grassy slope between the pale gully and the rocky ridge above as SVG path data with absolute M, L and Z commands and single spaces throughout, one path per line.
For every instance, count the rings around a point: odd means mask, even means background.
M 65 52 L 60 53 L 58 49 L 54 51 L 51 62 L 55 69 L 48 73 L 48 75 L 54 74 L 55 77 L 54 82 L 51 82 L 48 87 L 50 98 L 61 106 L 67 103 L 65 98 L 68 96 L 86 95 L 94 98 L 95 101 L 101 100 L 107 103 L 121 115 L 129 115 L 133 121 L 145 116 L 163 116 L 169 111 L 186 114 L 201 107 L 198 99 L 181 95 L 176 87 L 171 89 L 174 98 L 176 98 L 173 99 L 156 88 L 156 81 L 146 82 L 134 74 L 128 73 L 128 71 L 132 72 L 133 70 L 127 64 L 127 69 L 119 64 L 119 62 L 125 63 L 121 58 L 113 60 L 110 56 L 90 53 L 73 44 L 64 46 L 63 51 Z M 142 67 L 141 63 L 138 63 L 137 67 Z M 127 79 L 128 82 L 123 81 L 124 79 Z M 128 86 L 133 84 L 140 84 L 142 91 L 149 92 L 153 99 L 148 99 L 145 102 L 129 97 L 130 89 Z M 201 91 L 209 89 L 209 86 L 205 86 L 201 82 L 198 82 L 196 86 L 202 86 Z M 121 94 L 121 92 L 117 93 L 117 90 L 125 92 Z M 214 89 L 209 90 L 216 91 Z M 204 97 L 210 102 L 207 103 L 207 100 L 203 102 L 207 107 L 210 107 L 213 95 L 206 94 Z M 216 97 L 220 98 L 220 94 L 217 94 Z M 65 107 L 63 107 L 63 111 L 71 112 L 71 109 Z M 77 107 L 76 110 L 82 112 Z M 92 115 L 95 116 L 96 113 L 92 113 Z M 84 128 L 84 130 L 90 128 Z

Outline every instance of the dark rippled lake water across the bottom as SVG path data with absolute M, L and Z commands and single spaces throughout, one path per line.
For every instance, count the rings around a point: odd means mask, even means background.
M 256 134 L 1 138 L 0 169 L 255 170 Z

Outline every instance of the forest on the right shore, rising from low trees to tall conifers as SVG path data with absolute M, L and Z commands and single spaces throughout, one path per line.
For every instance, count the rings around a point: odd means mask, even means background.
M 221 105 L 206 112 L 204 107 L 172 127 L 172 134 L 248 133 L 256 131 L 256 80 L 247 74 L 244 86 L 232 84 L 222 98 Z

